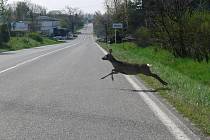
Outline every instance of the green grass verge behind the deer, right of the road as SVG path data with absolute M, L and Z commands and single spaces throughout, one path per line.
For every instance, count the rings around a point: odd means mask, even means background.
M 100 45 L 108 50 L 106 44 Z M 152 64 L 152 71 L 169 83 L 171 90 L 159 91 L 184 117 L 210 135 L 210 65 L 191 59 L 175 58 L 157 47 L 137 47 L 133 43 L 113 44 L 110 47 L 119 60 Z M 139 75 L 147 86 L 162 87 L 155 79 Z

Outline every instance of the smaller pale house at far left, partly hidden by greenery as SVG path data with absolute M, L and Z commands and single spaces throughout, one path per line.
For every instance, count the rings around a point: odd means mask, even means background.
M 29 31 L 29 25 L 28 25 L 28 23 L 25 23 L 23 21 L 12 22 L 11 23 L 11 31 L 27 32 L 27 31 Z

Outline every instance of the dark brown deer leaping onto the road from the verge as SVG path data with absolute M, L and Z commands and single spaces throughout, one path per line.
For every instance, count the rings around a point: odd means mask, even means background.
M 137 75 L 137 74 L 144 74 L 146 76 L 152 76 L 158 81 L 160 81 L 163 85 L 167 85 L 168 83 L 163 81 L 157 74 L 154 74 L 150 71 L 151 65 L 149 64 L 129 64 L 126 62 L 118 61 L 112 55 L 112 49 L 109 50 L 109 53 L 105 55 L 102 60 L 108 60 L 112 63 L 114 69 L 108 75 L 102 77 L 101 79 L 105 79 L 106 77 L 112 77 L 112 81 L 114 80 L 114 74 L 122 73 L 125 75 Z

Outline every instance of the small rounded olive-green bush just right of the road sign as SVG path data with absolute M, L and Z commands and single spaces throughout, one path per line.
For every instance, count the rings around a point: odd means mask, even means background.
M 151 44 L 151 32 L 146 27 L 140 27 L 135 33 L 137 44 L 140 46 L 148 46 Z

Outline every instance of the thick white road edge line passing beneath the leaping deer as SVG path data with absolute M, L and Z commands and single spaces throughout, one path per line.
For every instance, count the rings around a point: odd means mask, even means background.
M 98 45 L 97 43 L 95 44 L 104 54 L 107 54 L 107 52 L 103 48 L 101 48 L 100 45 Z M 141 87 L 130 76 L 124 76 L 134 89 L 141 89 Z M 158 105 L 147 94 L 141 92 L 139 93 L 139 95 L 177 140 L 190 140 L 190 138 L 169 118 L 166 113 L 162 111 L 162 109 L 158 107 Z

